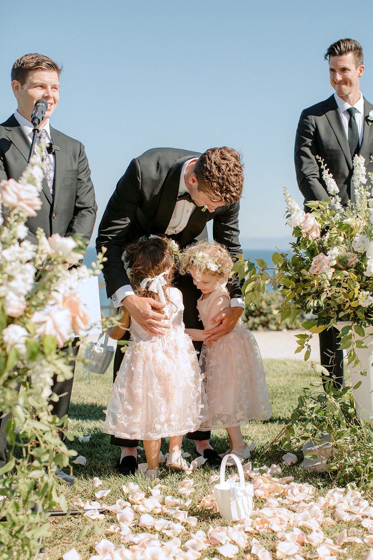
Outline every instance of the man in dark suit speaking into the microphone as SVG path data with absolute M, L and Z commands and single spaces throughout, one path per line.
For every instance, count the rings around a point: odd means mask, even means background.
M 91 171 L 81 142 L 65 136 L 50 127 L 49 118 L 59 101 L 59 75 L 62 71 L 53 60 L 40 54 L 26 54 L 16 60 L 12 68 L 12 90 L 17 99 L 17 110 L 0 125 L 0 180 L 19 179 L 29 157 L 32 124 L 31 113 L 35 101 L 45 99 L 48 104 L 40 123 L 40 138 L 49 143 L 43 154 L 45 178 L 40 198 L 43 202 L 36 217 L 30 217 L 27 239 L 37 243 L 36 230 L 43 228 L 49 237 L 58 233 L 62 236 L 80 234 L 87 242 L 91 238 L 96 220 L 95 191 Z M 51 149 L 50 149 L 51 148 Z M 48 172 L 46 169 L 48 168 Z M 54 379 L 53 391 L 62 396 L 53 403 L 53 413 L 62 418 L 68 413 L 73 379 L 58 382 Z M 4 464 L 4 424 L 0 430 L 0 465 Z M 64 482 L 74 483 L 63 471 L 58 477 Z

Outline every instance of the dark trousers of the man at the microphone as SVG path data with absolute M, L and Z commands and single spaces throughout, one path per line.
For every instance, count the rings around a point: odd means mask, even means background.
M 78 353 L 78 348 L 76 346 L 77 341 L 78 338 L 75 338 L 73 342 L 73 347 L 70 350 L 73 356 L 76 356 Z M 69 353 L 68 348 L 64 348 L 63 351 L 65 354 Z M 69 365 L 73 366 L 73 377 L 71 379 L 66 379 L 64 381 L 57 381 L 57 376 L 56 375 L 53 376 L 53 385 L 51 388 L 52 391 L 56 395 L 63 395 L 59 398 L 58 402 L 51 403 L 53 407 L 51 413 L 55 414 L 58 418 L 62 418 L 69 412 L 71 392 L 73 390 L 75 360 L 70 360 Z M 64 395 L 64 393 L 66 394 Z M 7 414 L 7 416 L 0 419 L 0 468 L 2 468 L 7 463 L 7 459 L 5 456 L 5 449 L 7 446 L 5 429 L 9 419 L 10 419 L 10 414 Z M 63 440 L 64 435 L 62 432 L 60 432 L 59 436 Z

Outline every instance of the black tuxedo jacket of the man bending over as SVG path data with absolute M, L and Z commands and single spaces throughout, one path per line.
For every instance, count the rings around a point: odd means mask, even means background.
M 111 297 L 121 286 L 129 284 L 121 260 L 124 246 L 142 235 L 166 232 L 176 204 L 183 165 L 199 152 L 177 148 L 153 148 L 131 161 L 116 185 L 105 213 L 98 237 L 97 251 L 107 248 L 107 262 L 103 266 L 107 296 Z M 242 253 L 238 235 L 239 202 L 216 208 L 212 213 L 196 207 L 185 229 L 178 234 L 182 247 L 190 244 L 213 220 L 214 240 L 225 245 L 230 254 Z M 231 297 L 242 297 L 238 282 L 230 287 Z

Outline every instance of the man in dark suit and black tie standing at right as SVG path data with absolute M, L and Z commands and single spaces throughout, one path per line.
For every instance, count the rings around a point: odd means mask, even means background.
M 329 46 L 330 83 L 335 93 L 329 99 L 305 109 L 300 116 L 295 139 L 295 169 L 298 185 L 309 200 L 329 197 L 316 156 L 323 158 L 339 187 L 342 204 L 355 200 L 351 189 L 352 160 L 355 153 L 365 157 L 367 171 L 373 172 L 373 127 L 368 113 L 373 109 L 360 92 L 364 72 L 362 48 L 357 41 L 340 39 Z M 305 207 L 307 210 L 308 207 Z M 337 329 L 320 333 L 320 358 L 333 384 L 343 383 L 343 351 L 338 350 Z

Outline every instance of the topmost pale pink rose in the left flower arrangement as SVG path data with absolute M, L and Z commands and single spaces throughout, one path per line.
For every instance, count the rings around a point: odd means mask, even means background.
M 39 192 L 34 185 L 21 185 L 14 179 L 3 180 L 0 183 L 3 206 L 21 208 L 28 216 L 35 218 L 36 210 L 41 208 Z

